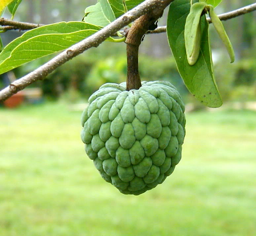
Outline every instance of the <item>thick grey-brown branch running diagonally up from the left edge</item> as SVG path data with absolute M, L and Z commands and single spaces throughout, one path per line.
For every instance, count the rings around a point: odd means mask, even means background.
M 98 47 L 104 40 L 116 33 L 118 30 L 128 25 L 135 19 L 142 15 L 152 11 L 154 9 L 161 8 L 163 5 L 170 4 L 172 0 L 146 0 L 128 11 L 126 14 L 117 18 L 109 25 L 91 35 L 90 37 L 82 40 L 81 42 L 71 46 L 64 50 L 53 59 L 40 66 L 36 70 L 30 72 L 26 76 L 14 81 L 8 87 L 0 91 L 0 101 L 4 101 L 17 93 L 19 90 L 27 87 L 38 80 L 44 79 L 48 74 L 54 71 L 57 67 L 69 61 L 71 58 L 81 54 L 91 47 Z

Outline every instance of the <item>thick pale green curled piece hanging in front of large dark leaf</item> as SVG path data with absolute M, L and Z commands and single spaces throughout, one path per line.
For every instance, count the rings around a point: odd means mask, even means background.
M 188 63 L 194 65 L 198 59 L 201 45 L 201 24 L 200 18 L 206 3 L 195 3 L 185 23 L 185 47 Z

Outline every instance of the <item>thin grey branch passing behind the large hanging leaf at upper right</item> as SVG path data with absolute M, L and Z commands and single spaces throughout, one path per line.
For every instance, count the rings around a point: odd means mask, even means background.
M 246 13 L 253 12 L 255 10 L 256 10 L 256 3 L 253 3 L 248 6 L 239 8 L 237 10 L 220 14 L 220 15 L 218 15 L 218 17 L 220 18 L 220 20 L 228 20 L 228 19 L 232 19 L 232 18 L 241 16 L 241 15 L 244 15 Z M 207 21 L 209 23 L 211 23 L 210 18 L 207 18 Z M 158 33 L 163 33 L 163 32 L 166 32 L 166 26 L 160 26 L 160 27 L 156 28 L 155 30 L 148 31 L 147 34 L 158 34 Z

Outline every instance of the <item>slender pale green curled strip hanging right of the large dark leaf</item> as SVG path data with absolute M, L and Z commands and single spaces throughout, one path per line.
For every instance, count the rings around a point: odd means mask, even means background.
M 222 42 L 224 43 L 224 45 L 229 53 L 230 63 L 233 63 L 235 61 L 235 52 L 234 52 L 232 44 L 229 40 L 229 37 L 224 29 L 224 26 L 223 26 L 221 20 L 215 14 L 215 12 L 213 10 L 213 6 L 208 5 L 208 7 L 209 7 L 209 16 L 211 18 L 211 22 L 214 25 L 214 28 L 216 29 L 218 35 L 220 36 Z

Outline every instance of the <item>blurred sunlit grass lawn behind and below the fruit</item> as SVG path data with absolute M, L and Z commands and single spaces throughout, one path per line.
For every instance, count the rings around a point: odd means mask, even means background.
M 0 235 L 256 235 L 256 112 L 187 114 L 181 162 L 133 196 L 106 183 L 80 112 L 0 110 Z

